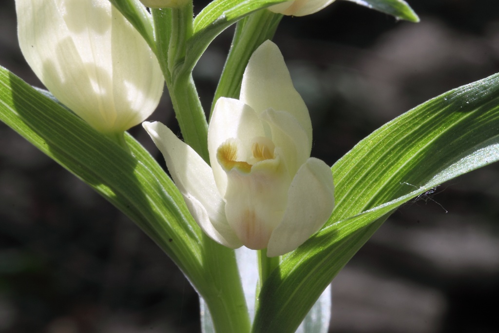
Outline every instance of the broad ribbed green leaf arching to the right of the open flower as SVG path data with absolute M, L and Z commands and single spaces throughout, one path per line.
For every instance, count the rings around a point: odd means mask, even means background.
M 498 124 L 496 74 L 417 106 L 357 144 L 332 167 L 331 218 L 284 257 L 264 284 L 253 332 L 294 332 L 322 290 L 398 206 L 498 161 Z

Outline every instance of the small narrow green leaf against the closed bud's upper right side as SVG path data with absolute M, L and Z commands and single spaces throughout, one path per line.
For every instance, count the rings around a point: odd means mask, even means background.
M 126 19 L 140 32 L 154 53 L 154 31 L 152 18 L 147 8 L 139 0 L 109 0 Z

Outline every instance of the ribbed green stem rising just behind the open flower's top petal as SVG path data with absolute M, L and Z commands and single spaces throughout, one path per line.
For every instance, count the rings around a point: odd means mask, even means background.
M 243 73 L 251 54 L 262 42 L 272 39 L 281 18 L 281 14 L 263 9 L 237 23 L 231 50 L 213 99 L 212 112 L 220 97 L 239 98 Z

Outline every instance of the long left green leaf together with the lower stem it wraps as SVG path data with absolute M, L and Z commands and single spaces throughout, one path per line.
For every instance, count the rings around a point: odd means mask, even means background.
M 234 251 L 201 231 L 172 180 L 134 138 L 125 134 L 129 151 L 123 149 L 1 66 L 0 120 L 149 235 L 207 300 L 220 332 L 249 331 Z

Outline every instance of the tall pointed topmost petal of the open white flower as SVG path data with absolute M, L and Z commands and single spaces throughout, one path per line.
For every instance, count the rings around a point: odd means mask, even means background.
M 264 41 L 251 55 L 243 76 L 240 100 L 258 114 L 268 108 L 289 112 L 312 142 L 308 109 L 293 86 L 279 48 L 270 40 Z

